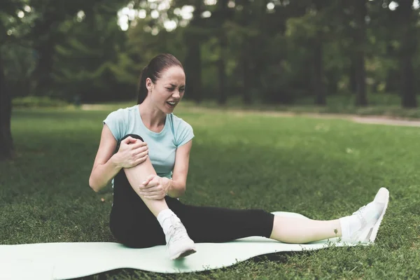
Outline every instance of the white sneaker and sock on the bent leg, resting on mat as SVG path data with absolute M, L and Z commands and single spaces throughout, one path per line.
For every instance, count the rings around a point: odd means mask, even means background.
M 165 235 L 167 251 L 170 260 L 184 258 L 196 252 L 195 244 L 188 236 L 187 230 L 178 217 L 168 217 L 171 221 L 169 230 Z

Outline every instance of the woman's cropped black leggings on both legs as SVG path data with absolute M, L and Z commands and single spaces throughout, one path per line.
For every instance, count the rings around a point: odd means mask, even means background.
M 130 136 L 141 139 L 135 134 Z M 113 236 L 120 243 L 132 248 L 164 245 L 165 235 L 158 219 L 134 192 L 123 169 L 114 179 L 113 192 L 110 216 Z M 268 238 L 272 232 L 274 215 L 267 211 L 195 207 L 168 196 L 165 200 L 196 243 L 226 242 L 251 236 Z

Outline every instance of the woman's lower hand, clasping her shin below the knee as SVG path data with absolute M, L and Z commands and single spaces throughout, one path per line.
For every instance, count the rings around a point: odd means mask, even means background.
M 162 200 L 167 195 L 171 180 L 151 174 L 139 186 L 140 195 L 148 200 Z

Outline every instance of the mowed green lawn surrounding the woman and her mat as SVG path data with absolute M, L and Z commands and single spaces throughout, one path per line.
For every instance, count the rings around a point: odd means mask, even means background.
M 13 112 L 16 157 L 0 162 L 0 244 L 115 241 L 111 186 L 99 194 L 88 186 L 109 112 Z M 418 279 L 419 128 L 186 109 L 176 115 L 195 132 L 183 202 L 332 219 L 384 186 L 391 197 L 376 244 L 270 254 L 210 272 L 118 269 L 93 279 Z

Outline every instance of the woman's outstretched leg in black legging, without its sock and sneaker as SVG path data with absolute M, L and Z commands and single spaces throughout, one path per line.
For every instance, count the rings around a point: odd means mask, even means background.
M 181 204 L 181 202 L 180 202 Z M 173 207 L 195 242 L 225 242 L 261 236 L 286 243 L 341 237 L 338 220 L 314 221 L 307 218 L 274 216 L 260 209 L 226 209 L 219 207 Z

